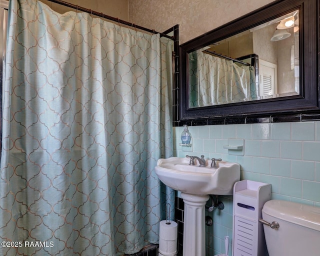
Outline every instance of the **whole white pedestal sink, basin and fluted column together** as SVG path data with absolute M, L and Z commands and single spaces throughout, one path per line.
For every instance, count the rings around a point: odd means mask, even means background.
M 184 201 L 183 256 L 205 256 L 205 203 L 209 194 L 231 195 L 233 184 L 240 180 L 240 165 L 219 161 L 216 168 L 189 165 L 189 159 L 159 159 L 155 166 L 158 178 Z

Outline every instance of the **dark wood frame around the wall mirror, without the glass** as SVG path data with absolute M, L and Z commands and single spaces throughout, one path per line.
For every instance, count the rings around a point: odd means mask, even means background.
M 174 126 L 320 120 L 319 0 L 277 0 L 187 41 L 179 47 L 179 97 L 174 95 Z M 295 96 L 205 107 L 188 105 L 188 53 L 299 9 L 300 93 Z M 175 94 L 177 90 L 175 90 Z M 177 111 L 177 107 L 179 111 Z

